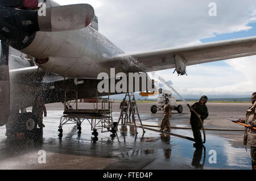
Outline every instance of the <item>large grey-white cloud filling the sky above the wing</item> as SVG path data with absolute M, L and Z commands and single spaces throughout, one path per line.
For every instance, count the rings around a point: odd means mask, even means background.
M 67 0 L 57 0 L 64 5 Z M 126 52 L 198 43 L 214 33 L 249 30 L 255 18 L 254 0 L 216 0 L 217 16 L 209 16 L 209 3 L 198 1 L 72 1 L 91 3 L 100 32 Z

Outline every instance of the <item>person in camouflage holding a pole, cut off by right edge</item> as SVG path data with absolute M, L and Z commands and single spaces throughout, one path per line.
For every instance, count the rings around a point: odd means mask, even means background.
M 245 120 L 240 119 L 239 122 L 248 125 L 248 127 L 245 127 L 243 144 L 251 146 L 251 166 L 253 170 L 256 170 L 256 130 L 251 129 L 251 127 L 256 127 L 256 92 L 251 95 L 251 103 L 253 106 L 246 111 Z

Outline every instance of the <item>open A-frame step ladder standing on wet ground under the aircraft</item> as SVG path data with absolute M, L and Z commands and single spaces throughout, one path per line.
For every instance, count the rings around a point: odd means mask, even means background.
M 136 125 L 136 116 L 137 116 L 139 122 L 141 123 L 143 133 L 145 133 L 144 128 L 143 128 L 143 124 L 142 124 L 142 121 L 141 121 L 141 116 L 139 116 L 138 106 L 137 106 L 137 103 L 136 103 L 136 100 L 135 100 L 134 93 L 130 93 L 130 92 L 126 93 L 125 94 L 125 100 L 126 100 L 127 97 L 129 98 L 128 103 L 127 103 L 127 106 L 125 106 L 125 104 L 122 105 L 121 113 L 120 113 L 118 123 L 117 123 L 117 127 L 119 125 L 120 120 L 122 120 L 123 129 L 125 128 L 125 124 L 126 124 L 126 122 L 128 122 L 128 119 L 129 119 L 128 110 L 131 109 L 131 116 L 133 117 L 135 132 L 138 133 L 137 132 L 137 125 Z M 123 118 L 123 116 L 125 116 L 125 118 Z M 117 127 L 116 127 L 116 129 L 117 129 Z

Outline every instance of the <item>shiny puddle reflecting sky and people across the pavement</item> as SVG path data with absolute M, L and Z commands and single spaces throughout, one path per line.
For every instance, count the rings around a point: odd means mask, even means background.
M 130 126 L 125 131 L 120 130 L 119 126 L 117 137 L 110 137 L 110 132 L 98 131 L 98 140 L 94 140 L 90 124 L 85 121 L 81 134 L 77 133 L 74 125 L 64 125 L 63 137 L 59 139 L 57 129 L 62 113 L 63 111 L 49 111 L 48 117 L 44 118 L 46 128 L 42 144 L 9 140 L 5 136 L 5 127 L 1 127 L 0 164 L 9 158 L 45 150 L 46 153 L 114 159 L 115 163 L 106 169 L 251 169 L 250 148 L 246 152 L 242 145 L 234 147 L 230 140 L 211 133 L 207 133 L 205 149 L 196 150 L 192 141 L 168 134 L 146 130 L 143 135 L 142 129 L 138 128 L 136 136 L 134 128 Z M 141 117 L 146 120 L 147 114 L 141 114 Z M 179 125 L 183 126 L 185 125 Z M 172 132 L 192 137 L 191 130 L 173 129 Z M 209 154 L 210 150 L 216 151 L 217 163 L 209 163 L 212 156 Z

